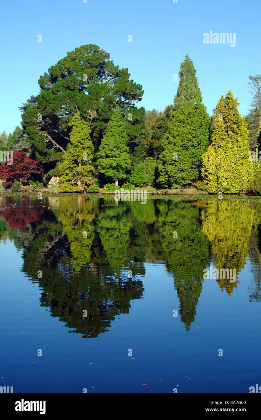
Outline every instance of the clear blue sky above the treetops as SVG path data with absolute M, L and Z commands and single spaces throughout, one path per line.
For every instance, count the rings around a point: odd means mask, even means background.
M 41 0 L 1 5 L 0 131 L 21 121 L 18 106 L 39 92 L 38 79 L 67 51 L 96 44 L 142 84 L 138 106 L 173 103 L 181 61 L 196 68 L 204 105 L 232 91 L 248 113 L 249 75 L 261 74 L 260 0 Z M 236 45 L 204 44 L 205 32 L 236 33 Z M 37 36 L 42 35 L 42 42 Z M 132 35 L 132 42 L 128 42 Z

